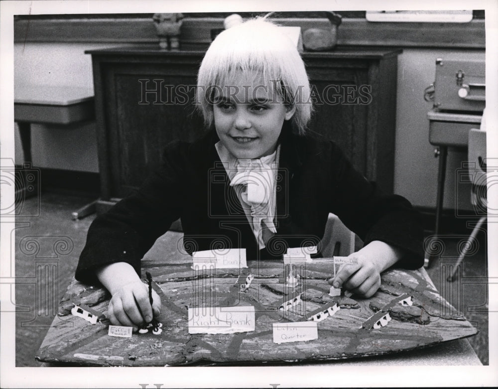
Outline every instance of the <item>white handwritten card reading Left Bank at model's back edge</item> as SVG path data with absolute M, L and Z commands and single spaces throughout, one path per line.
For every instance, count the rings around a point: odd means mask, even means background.
M 192 253 L 192 261 L 192 268 L 194 270 L 202 270 L 203 268 L 238 269 L 248 267 L 246 249 L 195 251 Z

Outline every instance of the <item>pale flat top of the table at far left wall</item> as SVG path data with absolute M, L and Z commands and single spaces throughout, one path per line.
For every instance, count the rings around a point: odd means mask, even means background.
M 50 85 L 16 85 L 14 104 L 69 106 L 91 101 L 91 88 Z

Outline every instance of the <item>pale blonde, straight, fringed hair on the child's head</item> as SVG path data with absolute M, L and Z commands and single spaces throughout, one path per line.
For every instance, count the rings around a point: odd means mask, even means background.
M 211 94 L 234 74 L 259 76 L 276 87 L 283 103 L 296 109 L 293 130 L 304 134 L 312 112 L 308 75 L 295 44 L 277 25 L 257 17 L 224 30 L 211 43 L 199 68 L 196 92 L 207 127 L 214 121 Z

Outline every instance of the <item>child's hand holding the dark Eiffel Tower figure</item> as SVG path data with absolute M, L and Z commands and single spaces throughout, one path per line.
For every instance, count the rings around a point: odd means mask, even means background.
M 155 290 L 152 290 L 150 306 L 148 286 L 142 281 L 135 281 L 123 285 L 113 294 L 107 314 L 113 325 L 133 327 L 133 331 L 137 331 L 153 316 L 159 316 L 160 308 L 161 299 Z

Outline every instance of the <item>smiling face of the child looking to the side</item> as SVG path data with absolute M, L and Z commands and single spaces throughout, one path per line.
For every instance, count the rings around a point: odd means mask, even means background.
M 231 77 L 214 94 L 214 123 L 220 141 L 237 158 L 259 158 L 277 146 L 284 120 L 294 115 L 261 78 Z

